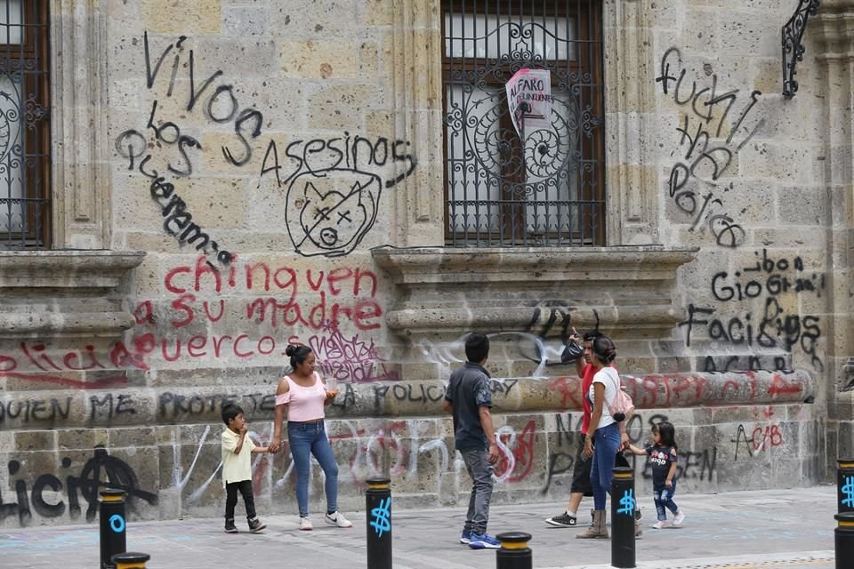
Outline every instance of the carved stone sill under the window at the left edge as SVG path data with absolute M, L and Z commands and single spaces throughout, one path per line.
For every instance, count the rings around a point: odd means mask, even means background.
M 110 298 L 144 252 L 0 251 L 0 339 L 118 338 L 133 317 Z

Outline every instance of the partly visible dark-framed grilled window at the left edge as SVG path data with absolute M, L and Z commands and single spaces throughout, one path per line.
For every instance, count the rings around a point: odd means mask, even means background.
M 0 0 L 0 248 L 51 244 L 47 0 Z

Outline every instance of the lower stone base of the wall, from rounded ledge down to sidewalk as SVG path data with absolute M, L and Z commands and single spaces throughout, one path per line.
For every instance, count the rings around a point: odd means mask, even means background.
M 680 487 L 687 492 L 814 483 L 821 421 L 813 405 L 800 401 L 813 395 L 815 382 L 806 373 L 761 372 L 744 380 L 721 373 L 625 375 L 626 389 L 648 407 L 632 416 L 627 432 L 642 445 L 652 423 L 678 425 Z M 496 501 L 566 497 L 580 437 L 579 384 L 575 377 L 492 382 L 501 449 Z M 392 477 L 399 507 L 467 501 L 471 485 L 455 456 L 453 427 L 440 416 L 443 393 L 441 381 L 342 386 L 327 421 L 342 507 L 363 507 L 366 479 L 383 474 Z M 698 401 L 751 405 L 697 407 Z M 274 398 L 257 384 L 3 397 L 4 524 L 91 521 L 94 491 L 108 482 L 132 495 L 137 517 L 222 515 L 222 425 L 216 421 L 226 402 L 246 409 L 258 444 L 270 439 Z M 646 462 L 636 461 L 635 470 L 639 492 L 649 490 Z M 312 479 L 313 503 L 322 504 L 319 469 Z M 262 511 L 294 511 L 287 450 L 256 455 L 253 482 Z

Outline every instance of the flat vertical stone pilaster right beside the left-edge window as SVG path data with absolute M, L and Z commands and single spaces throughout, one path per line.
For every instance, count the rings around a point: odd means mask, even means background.
M 51 11 L 54 246 L 109 247 L 106 12 L 99 0 Z

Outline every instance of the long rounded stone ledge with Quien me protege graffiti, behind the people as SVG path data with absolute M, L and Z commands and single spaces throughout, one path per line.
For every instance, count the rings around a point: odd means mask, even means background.
M 727 414 L 739 405 L 802 404 L 817 389 L 816 380 L 801 370 L 625 374 L 621 379 L 638 410 L 679 408 L 694 413 L 713 408 Z M 446 417 L 441 408 L 446 385 L 447 381 L 439 380 L 339 384 L 338 396 L 326 407 L 326 417 L 362 421 Z M 504 378 L 491 381 L 490 387 L 496 414 L 580 411 L 583 398 L 581 380 L 575 375 L 542 380 Z M 222 405 L 227 403 L 241 405 L 253 422 L 267 421 L 276 408 L 274 391 L 275 386 L 265 384 L 7 392 L 0 393 L 0 429 L 217 423 Z

